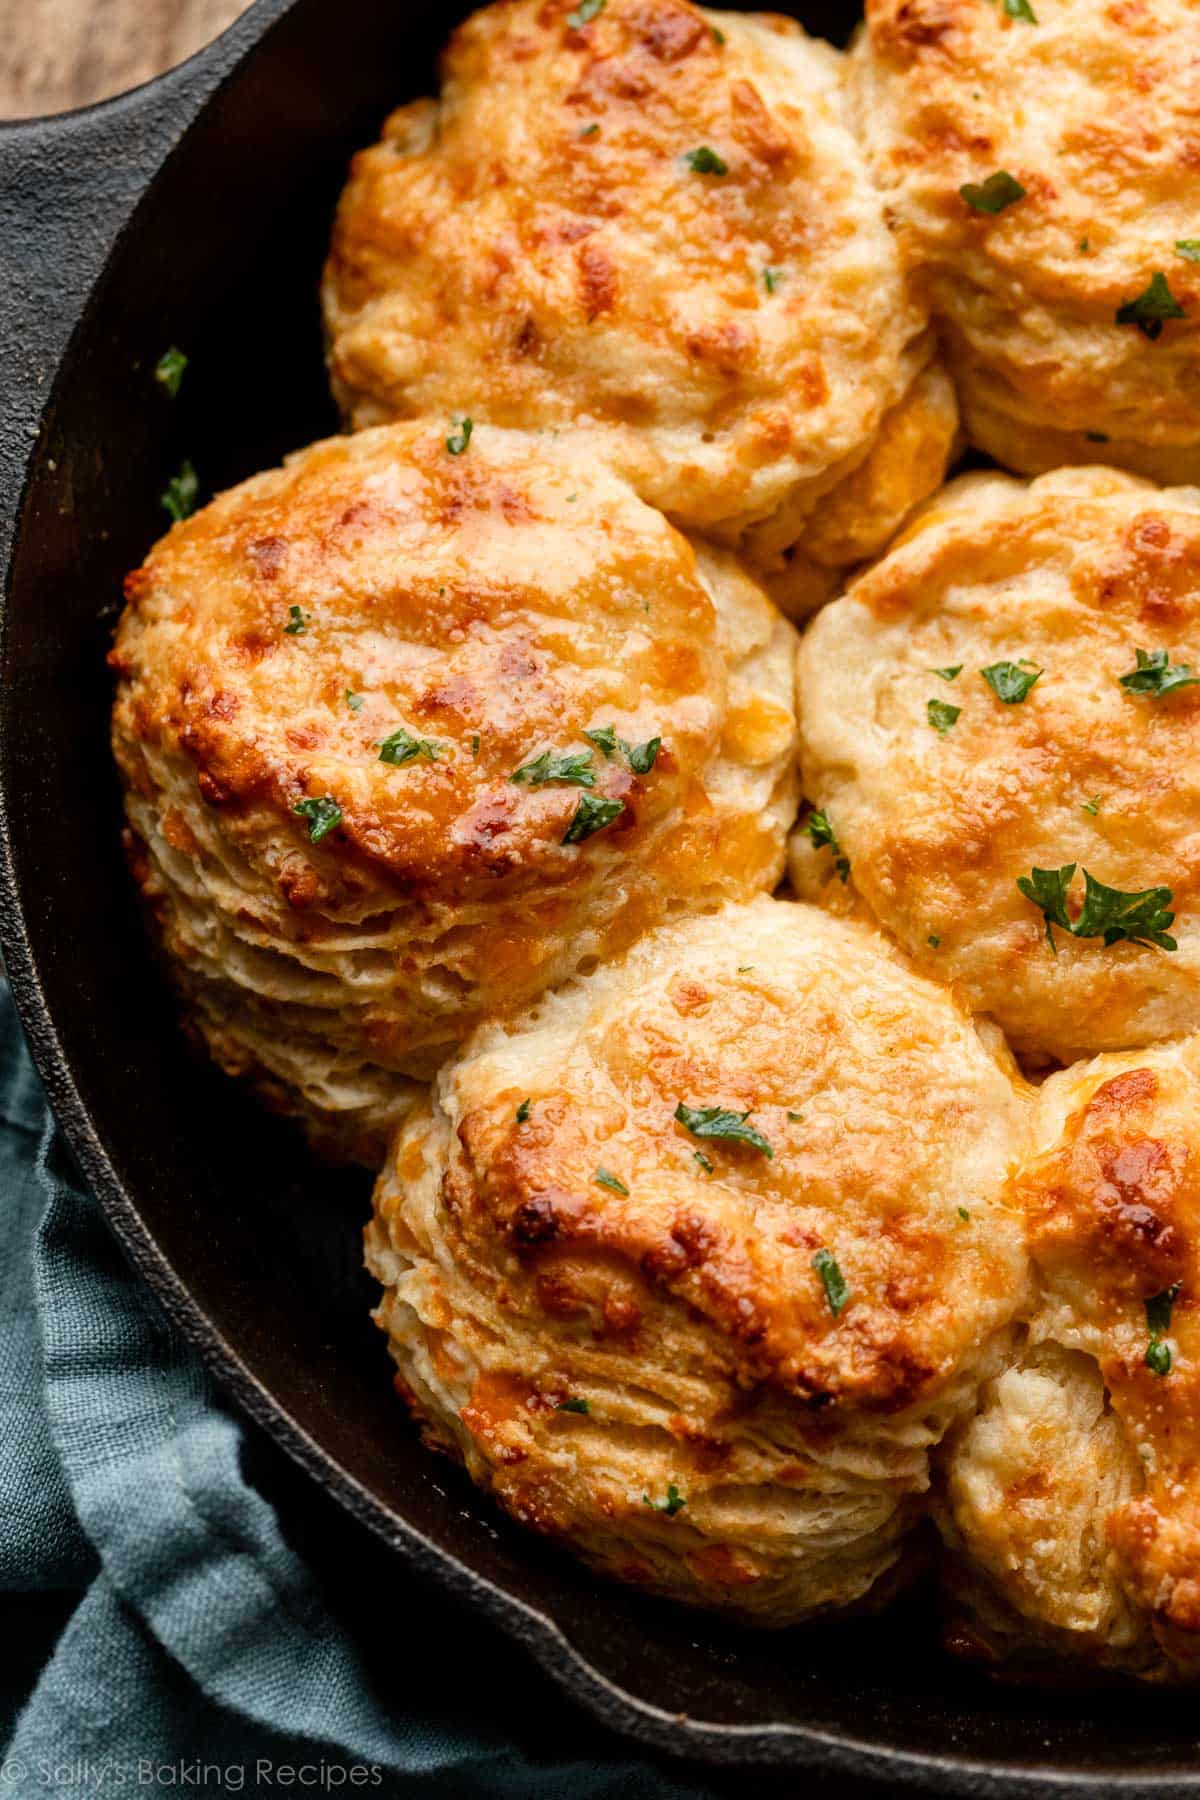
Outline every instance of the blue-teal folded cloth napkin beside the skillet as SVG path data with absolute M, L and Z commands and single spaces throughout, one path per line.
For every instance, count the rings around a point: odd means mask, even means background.
M 281 1525 L 302 1478 L 124 1264 L 7 994 L 0 1208 L 0 1796 L 716 1791 L 630 1755 L 396 1559 L 383 1597 L 365 1577 L 374 1629 L 347 1624 L 356 1570 L 318 1575 Z

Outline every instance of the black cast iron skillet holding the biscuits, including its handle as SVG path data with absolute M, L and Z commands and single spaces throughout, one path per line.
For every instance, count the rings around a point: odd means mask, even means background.
M 608 1724 L 930 1795 L 1200 1795 L 1186 1697 L 991 1687 L 939 1654 L 928 1607 L 756 1636 L 597 1588 L 518 1534 L 405 1427 L 367 1323 L 365 1181 L 315 1172 L 184 1048 L 117 850 L 121 576 L 184 455 L 216 490 L 336 428 L 329 211 L 464 11 L 257 0 L 175 74 L 0 130 L 0 931 L 50 1100 L 126 1253 L 246 1411 Z M 844 38 L 858 9 L 795 11 Z M 191 355 L 175 403 L 153 382 L 169 344 Z

